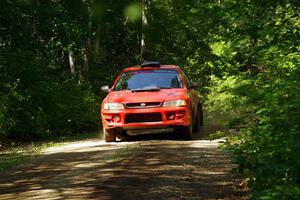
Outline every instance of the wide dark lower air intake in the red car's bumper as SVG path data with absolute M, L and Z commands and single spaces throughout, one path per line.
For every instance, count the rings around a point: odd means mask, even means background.
M 140 122 L 161 122 L 162 116 L 160 113 L 136 113 L 126 114 L 125 124 L 140 123 Z

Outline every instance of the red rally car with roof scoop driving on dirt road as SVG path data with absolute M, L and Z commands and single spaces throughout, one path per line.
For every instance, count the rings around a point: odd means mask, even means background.
M 147 62 L 124 69 L 111 88 L 101 88 L 108 92 L 101 106 L 105 141 L 171 131 L 190 139 L 203 124 L 196 87 L 178 66 Z

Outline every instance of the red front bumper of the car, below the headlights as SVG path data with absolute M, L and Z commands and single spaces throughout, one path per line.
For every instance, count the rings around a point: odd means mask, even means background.
M 126 122 L 126 115 L 134 114 L 151 114 L 160 113 L 161 120 L 147 121 L 147 122 Z M 172 118 L 172 113 L 174 118 Z M 114 120 L 115 116 L 119 116 L 119 120 Z M 105 129 L 158 129 L 169 128 L 173 126 L 189 126 L 190 110 L 188 107 L 158 107 L 158 108 L 136 108 L 136 109 L 122 109 L 122 110 L 102 110 L 101 112 L 102 124 Z M 142 121 L 142 120 L 141 120 Z

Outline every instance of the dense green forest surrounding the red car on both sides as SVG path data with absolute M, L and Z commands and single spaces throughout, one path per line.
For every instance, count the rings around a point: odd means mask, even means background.
M 300 199 L 299 1 L 143 6 L 142 26 L 141 1 L 2 0 L 0 144 L 99 129 L 100 86 L 156 60 L 199 84 L 253 199 Z

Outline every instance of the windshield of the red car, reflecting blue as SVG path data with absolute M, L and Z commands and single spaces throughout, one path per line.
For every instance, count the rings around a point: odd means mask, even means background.
M 177 70 L 154 69 L 124 72 L 119 78 L 114 91 L 159 90 L 182 88 L 182 82 Z

